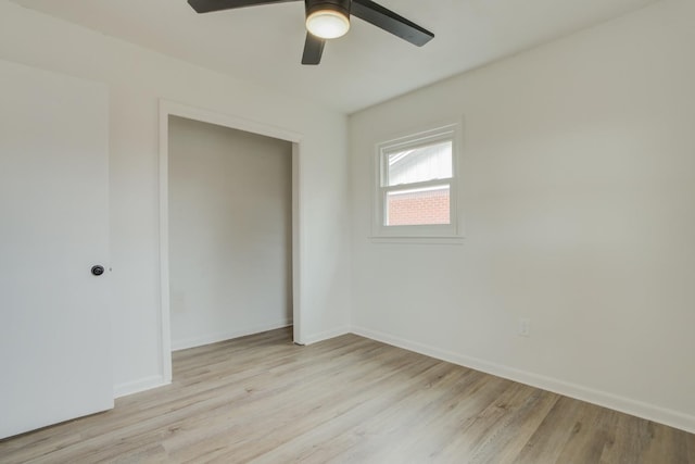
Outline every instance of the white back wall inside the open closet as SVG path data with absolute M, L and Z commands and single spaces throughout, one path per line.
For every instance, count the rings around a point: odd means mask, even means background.
M 169 117 L 172 347 L 292 324 L 292 143 Z

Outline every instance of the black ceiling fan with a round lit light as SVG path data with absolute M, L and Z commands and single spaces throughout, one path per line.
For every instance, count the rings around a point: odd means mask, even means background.
M 208 13 L 290 1 L 298 0 L 188 0 L 188 3 L 198 13 Z M 342 37 L 350 30 L 351 14 L 418 47 L 434 37 L 429 30 L 371 0 L 304 0 L 304 7 L 307 33 L 302 64 L 320 63 L 326 40 Z

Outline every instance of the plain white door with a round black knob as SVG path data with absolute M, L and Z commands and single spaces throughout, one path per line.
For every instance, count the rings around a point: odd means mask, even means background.
M 0 438 L 113 407 L 108 113 L 105 86 L 0 61 Z

